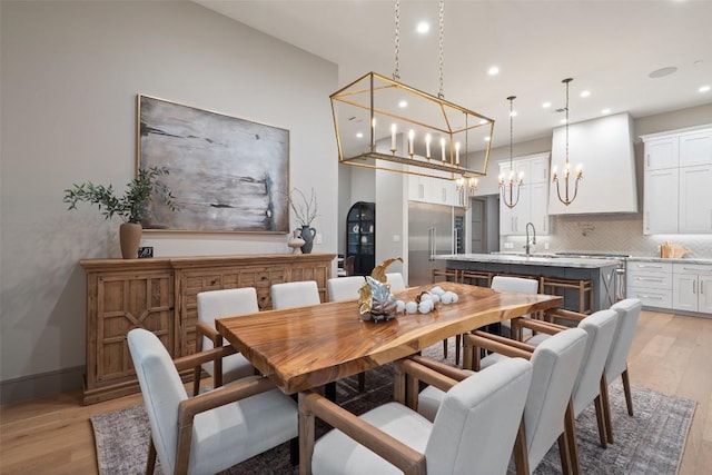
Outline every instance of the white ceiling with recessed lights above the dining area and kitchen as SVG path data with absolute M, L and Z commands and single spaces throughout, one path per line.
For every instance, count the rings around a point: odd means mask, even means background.
M 335 62 L 339 88 L 369 71 L 393 76 L 393 0 L 194 1 Z M 400 0 L 399 8 L 400 81 L 437 96 L 438 1 Z M 712 86 L 710 19 L 710 0 L 446 0 L 445 99 L 495 119 L 493 147 L 510 141 L 508 96 L 517 97 L 515 142 L 561 126 L 567 77 L 572 123 L 603 109 L 640 118 L 710 103 L 712 91 L 699 91 Z M 431 23 L 426 34 L 415 31 L 422 20 Z M 492 66 L 497 76 L 487 73 Z M 678 70 L 649 77 L 666 67 Z

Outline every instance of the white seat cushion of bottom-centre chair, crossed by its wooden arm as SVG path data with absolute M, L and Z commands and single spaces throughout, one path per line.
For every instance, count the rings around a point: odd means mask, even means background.
M 360 418 L 415 451 L 425 453 L 433 424 L 406 406 L 388 403 L 367 412 Z M 316 442 L 312 471 L 315 475 L 403 473 L 338 429 L 330 431 Z

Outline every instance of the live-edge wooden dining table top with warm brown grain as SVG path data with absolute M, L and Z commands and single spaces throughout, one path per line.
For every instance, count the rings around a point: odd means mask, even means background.
M 558 296 L 456 283 L 413 287 L 394 296 L 413 301 L 436 285 L 457 294 L 457 303 L 373 323 L 360 318 L 358 300 L 353 299 L 218 318 L 216 327 L 261 374 L 285 394 L 294 394 L 414 355 L 447 337 L 563 305 Z

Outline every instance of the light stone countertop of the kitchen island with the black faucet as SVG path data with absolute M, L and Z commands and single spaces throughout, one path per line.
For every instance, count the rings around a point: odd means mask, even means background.
M 439 260 L 459 260 L 463 263 L 518 264 L 524 266 L 574 267 L 582 269 L 597 269 L 617 266 L 617 259 L 581 258 L 555 255 L 518 255 L 518 254 L 448 254 L 434 256 Z M 670 259 L 668 259 L 670 260 Z M 690 259 L 685 259 L 689 261 Z

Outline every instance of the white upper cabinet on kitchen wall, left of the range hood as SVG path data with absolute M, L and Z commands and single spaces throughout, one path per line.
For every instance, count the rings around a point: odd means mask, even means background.
M 523 174 L 524 185 L 514 208 L 500 198 L 500 234 L 517 236 L 526 234 L 526 224 L 532 222 L 537 235 L 547 235 L 548 228 L 548 152 L 517 157 L 512 160 L 515 180 Z M 500 161 L 500 175 L 510 179 L 510 160 Z M 515 181 L 516 182 L 516 181 Z M 508 185 L 507 185 L 508 189 Z M 514 190 L 516 199 L 516 187 Z

